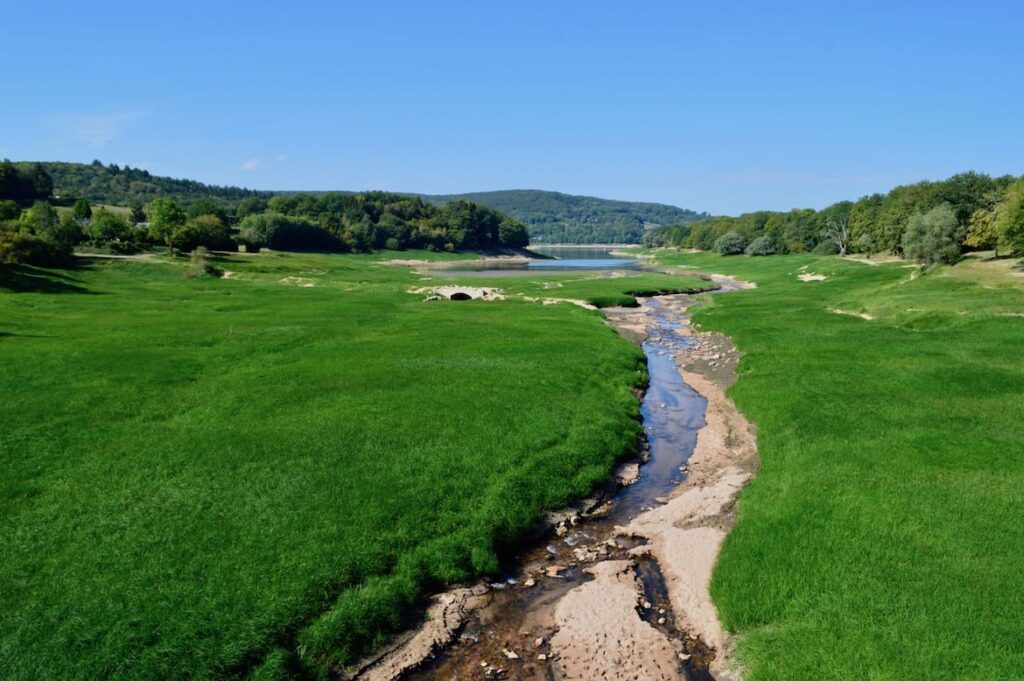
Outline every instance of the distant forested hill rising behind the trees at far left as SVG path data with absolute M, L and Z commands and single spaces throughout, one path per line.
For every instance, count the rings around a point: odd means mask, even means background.
M 59 202 L 68 197 L 84 197 L 92 203 L 130 206 L 148 203 L 155 197 L 170 197 L 187 206 L 199 199 L 213 199 L 229 204 L 247 197 L 269 198 L 269 191 L 255 191 L 238 186 L 204 184 L 190 179 L 175 179 L 150 174 L 150 171 L 116 163 L 18 163 L 20 169 L 42 168 L 53 179 L 53 196 Z

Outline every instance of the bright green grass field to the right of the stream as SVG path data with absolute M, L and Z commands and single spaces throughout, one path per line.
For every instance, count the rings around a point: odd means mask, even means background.
M 759 285 L 695 314 L 745 353 L 730 394 L 758 427 L 713 582 L 749 678 L 1024 678 L 1024 282 L 659 260 Z

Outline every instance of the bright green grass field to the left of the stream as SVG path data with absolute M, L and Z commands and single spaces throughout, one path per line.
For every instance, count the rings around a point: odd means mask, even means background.
M 424 303 L 372 256 L 185 266 L 0 270 L 4 678 L 319 673 L 635 446 L 642 355 L 597 312 Z

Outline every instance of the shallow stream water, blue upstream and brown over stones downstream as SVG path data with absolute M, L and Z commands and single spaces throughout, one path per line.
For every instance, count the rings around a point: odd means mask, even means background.
M 618 268 L 617 263 L 590 265 L 588 269 Z M 658 298 L 644 299 L 641 305 L 648 321 L 642 348 L 647 358 L 649 384 L 641 403 L 647 461 L 640 466 L 638 480 L 611 494 L 606 512 L 563 527 L 557 534 L 551 533 L 507 556 L 502 579 L 488 587 L 487 606 L 469 618 L 452 645 L 408 678 L 479 678 L 481 671 L 506 663 L 507 669 L 490 678 L 554 679 L 551 664 L 538 662 L 545 649 L 537 641 L 550 640 L 555 631 L 552 620 L 555 603 L 590 579 L 584 572 L 585 561 L 575 553 L 578 547 L 600 544 L 602 559 L 625 556 L 638 542 L 616 537 L 615 526 L 628 524 L 644 510 L 657 506 L 663 497 L 685 479 L 686 462 L 696 444 L 697 431 L 705 425 L 707 400 L 683 380 L 675 356 L 680 349 L 697 341 L 684 334 L 678 307 L 670 310 Z M 555 565 L 563 569 L 552 578 L 547 570 Z M 651 605 L 642 609 L 640 615 L 651 626 L 683 641 L 690 655 L 684 665 L 687 678 L 711 678 L 707 672 L 708 649 L 676 628 L 657 564 L 641 559 L 637 573 L 644 588 L 644 599 Z M 509 661 L 503 656 L 506 650 L 518 650 L 522 664 L 508 665 Z

